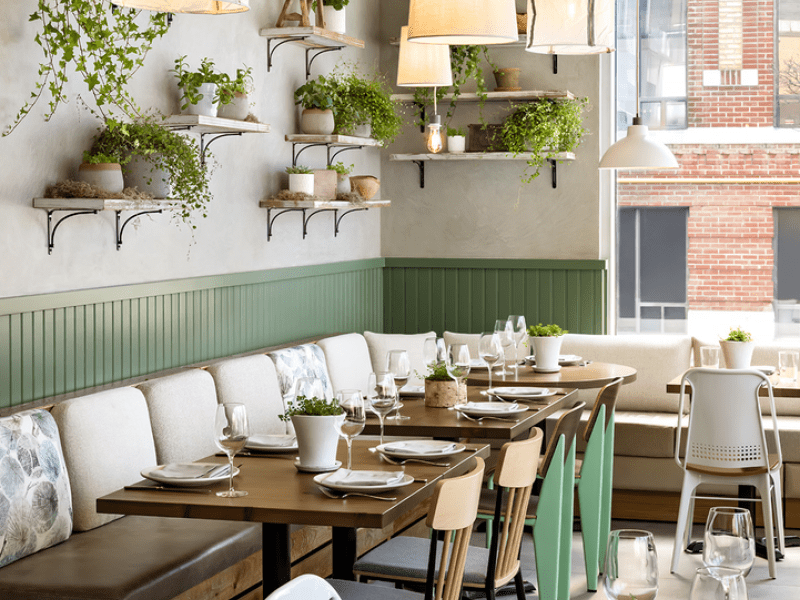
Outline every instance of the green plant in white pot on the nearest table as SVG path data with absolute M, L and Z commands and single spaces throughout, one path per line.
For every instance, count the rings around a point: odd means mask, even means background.
M 327 469 L 336 465 L 339 444 L 336 421 L 344 418 L 344 411 L 336 399 L 327 401 L 316 396 L 297 396 L 286 403 L 286 412 L 278 418 L 291 420 L 294 426 L 300 466 Z

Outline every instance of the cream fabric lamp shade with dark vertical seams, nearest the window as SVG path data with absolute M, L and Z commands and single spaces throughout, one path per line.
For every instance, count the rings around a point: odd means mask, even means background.
M 614 51 L 614 0 L 528 0 L 525 50 L 537 54 Z

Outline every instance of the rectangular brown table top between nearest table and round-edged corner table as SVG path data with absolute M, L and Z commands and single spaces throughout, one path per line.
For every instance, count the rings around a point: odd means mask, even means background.
M 489 400 L 481 395 L 483 387 L 467 387 L 467 400 L 470 402 L 486 402 Z M 525 434 L 532 427 L 544 421 L 569 400 L 574 400 L 575 390 L 559 390 L 555 396 L 550 396 L 537 401 L 521 400 L 520 404 L 528 407 L 528 411 L 514 419 L 485 419 L 481 423 L 470 421 L 455 410 L 446 408 L 431 408 L 425 406 L 425 400 L 420 397 L 402 397 L 403 408 L 401 414 L 411 417 L 404 421 L 385 421 L 386 435 L 436 437 L 436 438 L 484 438 L 497 440 L 512 440 Z M 378 435 L 380 422 L 378 417 L 367 418 L 364 428 L 365 435 Z

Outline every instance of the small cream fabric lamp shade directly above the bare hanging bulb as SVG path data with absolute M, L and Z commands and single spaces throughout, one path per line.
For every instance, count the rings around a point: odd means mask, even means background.
M 402 87 L 448 87 L 453 85 L 450 46 L 408 41 L 408 27 L 400 33 L 397 85 Z

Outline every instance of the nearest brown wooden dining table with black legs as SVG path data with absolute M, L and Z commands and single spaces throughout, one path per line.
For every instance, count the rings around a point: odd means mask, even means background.
M 101 513 L 181 517 L 189 519 L 221 519 L 262 523 L 263 592 L 266 597 L 291 579 L 291 541 L 289 526 L 323 525 L 333 528 L 333 575 L 353 578 L 356 559 L 356 529 L 386 527 L 433 494 L 436 482 L 455 477 L 472 468 L 472 457 L 489 456 L 489 446 L 467 444 L 468 451 L 448 457 L 449 466 L 408 464 L 396 467 L 382 462 L 368 451 L 373 440 L 353 444 L 353 466 L 382 471 L 404 470 L 426 483 L 412 483 L 386 493 L 394 502 L 370 498 L 327 498 L 313 482 L 314 475 L 299 473 L 293 466 L 294 454 L 243 456 L 236 458 L 241 472 L 234 478 L 237 489 L 249 493 L 242 498 L 219 498 L 216 494 L 164 491 L 118 490 L 97 500 Z M 339 460 L 347 459 L 344 442 L 339 444 Z M 225 462 L 221 457 L 204 459 Z M 226 489 L 218 484 L 214 491 Z

